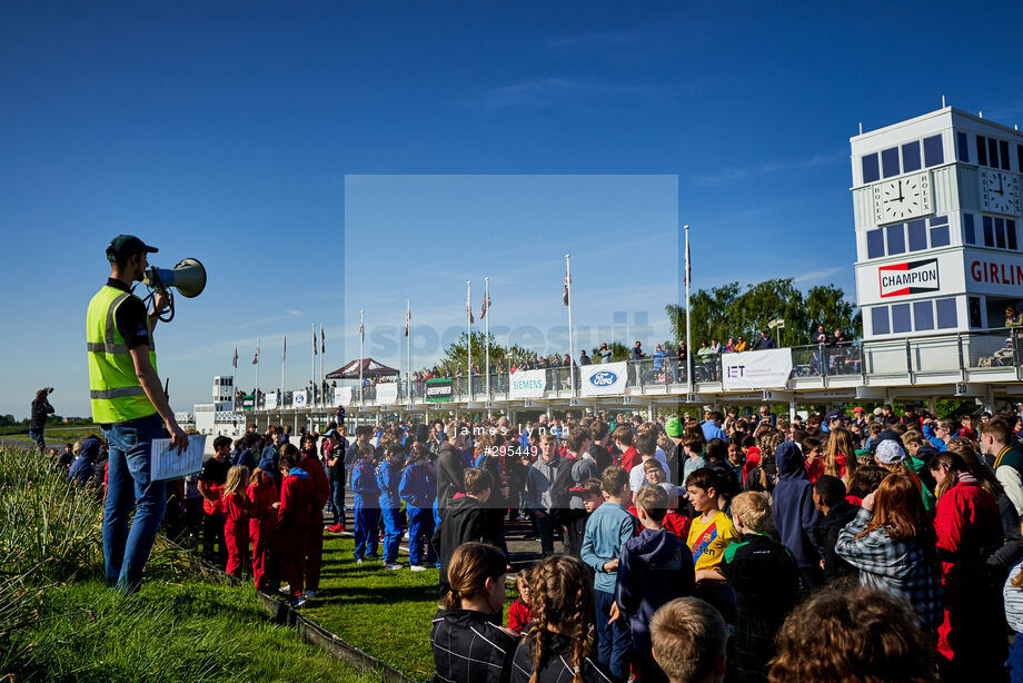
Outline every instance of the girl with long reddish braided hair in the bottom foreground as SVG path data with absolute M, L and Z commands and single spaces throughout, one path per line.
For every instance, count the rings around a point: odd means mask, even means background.
M 545 557 L 529 588 L 533 622 L 515 651 L 512 683 L 608 683 L 609 672 L 589 659 L 593 584 L 583 561 Z

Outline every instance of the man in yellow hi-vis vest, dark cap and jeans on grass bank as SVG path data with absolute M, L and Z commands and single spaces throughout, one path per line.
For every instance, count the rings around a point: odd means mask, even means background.
M 115 237 L 107 246 L 110 278 L 86 315 L 92 420 L 110 445 L 103 511 L 107 586 L 126 591 L 141 583 L 167 503 L 163 482 L 150 481 L 152 439 L 169 433 L 172 448 L 188 445 L 157 376 L 152 328 L 168 305 L 167 294 L 158 291 L 147 313 L 131 293 L 132 284 L 146 277 L 147 255 L 156 251 L 132 235 Z

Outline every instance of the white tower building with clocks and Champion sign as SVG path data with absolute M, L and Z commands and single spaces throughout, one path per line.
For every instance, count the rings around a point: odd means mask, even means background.
M 946 107 L 850 143 L 864 338 L 1003 327 L 1023 296 L 1023 135 Z

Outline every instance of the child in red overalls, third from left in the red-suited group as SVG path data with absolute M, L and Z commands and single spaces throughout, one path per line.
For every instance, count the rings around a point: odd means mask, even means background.
M 277 508 L 275 540 L 280 557 L 280 572 L 288 580 L 288 594 L 292 607 L 306 603 L 302 578 L 306 564 L 306 535 L 312 514 L 312 482 L 299 466 L 300 454 L 292 444 L 280 448 L 280 507 Z

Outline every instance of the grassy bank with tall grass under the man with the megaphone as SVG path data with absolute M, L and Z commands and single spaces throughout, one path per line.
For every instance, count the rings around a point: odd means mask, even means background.
M 250 585 L 158 547 L 141 593 L 101 580 L 101 506 L 43 458 L 0 451 L 0 676 L 18 681 L 378 681 L 271 623 Z

